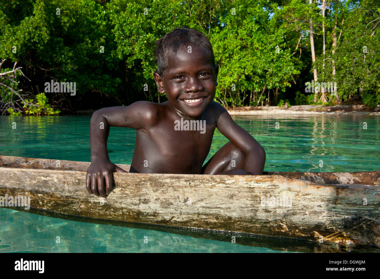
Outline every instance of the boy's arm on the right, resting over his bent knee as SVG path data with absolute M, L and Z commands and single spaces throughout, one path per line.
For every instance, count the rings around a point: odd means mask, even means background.
M 216 127 L 228 140 L 245 153 L 245 171 L 262 174 L 265 165 L 265 151 L 247 131 L 232 120 L 222 105 L 214 102 Z

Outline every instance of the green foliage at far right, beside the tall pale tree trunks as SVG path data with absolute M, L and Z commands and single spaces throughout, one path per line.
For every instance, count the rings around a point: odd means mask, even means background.
M 377 0 L 348 0 L 332 2 L 331 8 L 331 15 L 326 17 L 326 55 L 318 55 L 315 63 L 318 81 L 337 82 L 341 100 L 360 91 L 363 103 L 375 106 L 380 103 L 379 3 Z M 337 47 L 333 54 L 330 34 L 334 33 L 335 22 L 338 22 Z M 335 75 L 332 74 L 334 66 Z M 332 96 L 330 101 L 333 101 Z

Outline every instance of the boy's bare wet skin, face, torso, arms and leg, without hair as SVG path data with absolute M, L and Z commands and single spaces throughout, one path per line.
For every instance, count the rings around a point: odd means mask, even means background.
M 168 101 L 138 101 L 96 111 L 90 124 L 91 165 L 87 170 L 89 193 L 106 197 L 112 190 L 112 172 L 126 172 L 109 160 L 109 127 L 137 130 L 130 172 L 182 174 L 262 174 L 263 147 L 237 125 L 221 105 L 213 101 L 218 65 L 212 66 L 203 49 L 180 49 L 168 57 L 160 77 L 154 73 L 158 92 Z M 196 103 L 185 100 L 202 99 Z M 174 130 L 175 120 L 206 120 L 205 133 Z M 100 129 L 100 122 L 104 129 Z M 230 140 L 202 167 L 215 128 Z

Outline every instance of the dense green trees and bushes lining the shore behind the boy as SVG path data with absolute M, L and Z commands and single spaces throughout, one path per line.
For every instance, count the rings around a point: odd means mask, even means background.
M 0 114 L 165 101 L 155 41 L 182 26 L 210 39 L 225 106 L 376 106 L 379 23 L 378 0 L 0 0 Z M 51 80 L 76 93 L 45 93 Z

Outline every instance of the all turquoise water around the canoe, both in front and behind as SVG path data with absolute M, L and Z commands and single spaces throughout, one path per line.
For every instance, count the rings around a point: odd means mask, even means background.
M 264 171 L 380 170 L 378 116 L 263 115 L 233 119 L 264 147 Z M 16 129 L 12 129 L 14 122 Z M 89 123 L 90 115 L 0 116 L 0 155 L 89 161 Z M 111 127 L 108 149 L 112 162 L 131 163 L 135 136 L 135 130 Z M 216 131 L 207 159 L 227 141 Z M 279 244 L 273 245 L 274 250 L 238 245 L 238 240 L 231 243 L 76 222 L 4 208 L 0 208 L 0 225 L 0 252 L 285 252 L 277 250 Z M 56 243 L 57 236 L 60 243 Z

